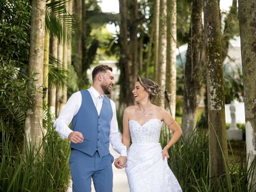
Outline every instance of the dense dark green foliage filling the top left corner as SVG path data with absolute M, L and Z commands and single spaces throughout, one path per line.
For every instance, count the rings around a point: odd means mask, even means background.
M 0 63 L 25 67 L 28 63 L 30 1 L 0 2 Z

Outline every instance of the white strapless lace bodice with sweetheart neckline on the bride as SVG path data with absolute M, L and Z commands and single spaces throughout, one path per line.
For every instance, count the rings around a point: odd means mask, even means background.
M 150 119 L 142 126 L 135 120 L 129 121 L 132 143 L 158 143 L 163 122 Z

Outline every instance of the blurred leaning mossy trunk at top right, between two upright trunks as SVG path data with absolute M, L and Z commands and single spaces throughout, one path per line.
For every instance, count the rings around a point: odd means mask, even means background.
M 225 27 L 221 39 L 222 62 L 224 62 L 226 56 L 228 55 L 229 41 L 234 36 L 234 28 L 236 26 L 235 21 L 237 20 L 237 15 L 237 0 L 233 0 L 230 12 L 228 13 L 225 19 Z

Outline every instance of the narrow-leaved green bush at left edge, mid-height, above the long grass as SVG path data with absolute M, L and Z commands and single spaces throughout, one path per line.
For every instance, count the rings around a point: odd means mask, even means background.
M 9 130 L 23 130 L 26 111 L 32 107 L 36 90 L 29 79 L 17 78 L 19 71 L 13 65 L 0 66 L 0 117 Z M 14 131 L 13 130 L 13 131 Z

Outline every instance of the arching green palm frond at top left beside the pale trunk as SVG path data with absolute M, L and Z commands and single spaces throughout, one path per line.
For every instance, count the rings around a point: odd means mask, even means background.
M 58 0 L 46 4 L 45 25 L 51 36 L 56 36 L 60 42 L 70 44 L 72 37 L 77 36 L 77 27 L 75 17 L 66 9 L 65 3 L 68 1 Z

